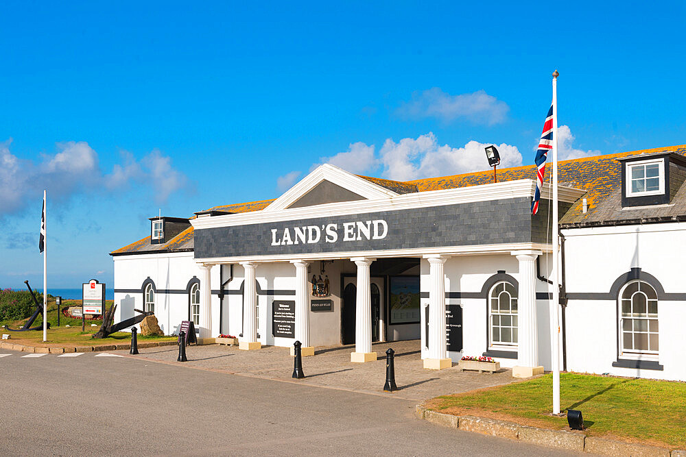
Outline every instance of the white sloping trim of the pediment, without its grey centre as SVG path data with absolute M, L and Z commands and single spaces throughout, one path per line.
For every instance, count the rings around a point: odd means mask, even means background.
M 324 180 L 333 182 L 333 184 L 346 188 L 366 199 L 390 198 L 398 195 L 392 190 L 388 190 L 387 188 L 383 188 L 362 177 L 353 175 L 353 173 L 340 169 L 338 166 L 323 164 L 318 166 L 312 173 L 305 176 L 298 184 L 295 184 L 292 188 L 286 190 L 281 197 L 272 201 L 263 211 L 272 212 L 288 208 Z

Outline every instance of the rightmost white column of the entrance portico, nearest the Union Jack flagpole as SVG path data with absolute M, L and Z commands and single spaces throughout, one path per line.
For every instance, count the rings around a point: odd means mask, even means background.
M 519 260 L 519 341 L 517 366 L 512 368 L 514 378 L 529 378 L 543 373 L 543 367 L 539 366 L 536 323 L 536 257 L 540 254 L 540 251 L 512 251 L 512 255 Z

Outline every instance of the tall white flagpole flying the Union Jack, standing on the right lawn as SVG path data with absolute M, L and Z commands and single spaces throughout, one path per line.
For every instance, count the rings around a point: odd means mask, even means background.
M 558 153 L 558 129 L 557 129 L 557 77 L 560 73 L 553 72 L 553 293 L 550 306 L 551 338 L 552 338 L 552 368 L 553 368 L 553 414 L 560 414 L 560 318 L 558 314 L 560 304 L 560 241 L 558 239 L 558 184 L 557 184 L 557 153 Z

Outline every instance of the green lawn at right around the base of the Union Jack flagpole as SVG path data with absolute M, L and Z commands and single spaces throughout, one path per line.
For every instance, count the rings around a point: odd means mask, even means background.
M 445 395 L 427 407 L 562 430 L 552 412 L 552 375 L 473 393 Z M 581 410 L 587 434 L 686 448 L 686 383 L 562 373 L 560 407 Z

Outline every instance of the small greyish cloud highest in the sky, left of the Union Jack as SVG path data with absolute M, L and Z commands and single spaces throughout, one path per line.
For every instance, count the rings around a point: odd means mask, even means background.
M 474 123 L 493 125 L 506 119 L 510 107 L 484 90 L 471 94 L 450 95 L 438 87 L 415 92 L 412 100 L 403 103 L 397 114 L 410 119 L 433 117 L 450 122 L 458 118 Z

